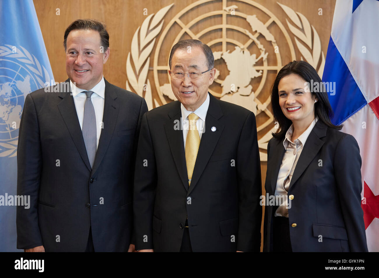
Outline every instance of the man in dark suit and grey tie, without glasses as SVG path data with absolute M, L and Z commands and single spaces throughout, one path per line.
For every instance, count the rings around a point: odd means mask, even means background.
M 17 151 L 17 248 L 125 252 L 143 98 L 103 78 L 109 35 L 97 20 L 64 34 L 69 79 L 27 95 Z

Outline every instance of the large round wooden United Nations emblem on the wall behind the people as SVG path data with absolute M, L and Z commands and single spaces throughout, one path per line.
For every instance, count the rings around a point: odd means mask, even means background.
M 126 62 L 126 87 L 143 96 L 149 109 L 177 100 L 168 74 L 169 51 L 182 39 L 199 39 L 207 43 L 215 56 L 216 68 L 210 93 L 254 112 L 260 158 L 267 161 L 267 154 L 262 150 L 267 149 L 271 132 L 277 130 L 269 106 L 275 76 L 283 65 L 300 59 L 318 69 L 321 76 L 324 53 L 315 28 L 305 16 L 293 9 L 278 3 L 292 22 L 286 19 L 300 57 L 296 57 L 295 45 L 283 23 L 271 11 L 250 0 L 234 1 L 230 6 L 227 2 L 197 1 L 174 15 L 164 29 L 163 18 L 174 4 L 147 16 L 132 39 Z M 199 15 L 196 9 L 208 10 L 206 5 L 213 5 L 213 8 Z M 150 54 L 156 40 L 151 67 Z M 156 98 L 152 87 L 157 92 Z

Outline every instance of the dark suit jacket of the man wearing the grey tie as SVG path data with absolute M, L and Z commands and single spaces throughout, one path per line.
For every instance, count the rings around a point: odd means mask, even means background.
M 91 226 L 95 251 L 127 251 L 135 151 L 146 102 L 105 80 L 104 125 L 91 169 L 74 99 L 53 92 L 63 88 L 56 86 L 25 98 L 17 194 L 30 195 L 31 206 L 17 207 L 17 248 L 84 252 Z

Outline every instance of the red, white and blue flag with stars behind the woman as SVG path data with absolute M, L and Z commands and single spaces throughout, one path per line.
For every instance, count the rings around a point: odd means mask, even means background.
M 323 82 L 334 124 L 353 135 L 362 157 L 362 209 L 368 250 L 379 252 L 379 1 L 337 0 Z

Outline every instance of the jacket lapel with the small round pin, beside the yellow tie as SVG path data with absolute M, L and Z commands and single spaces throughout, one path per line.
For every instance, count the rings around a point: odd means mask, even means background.
M 201 136 L 199 151 L 197 152 L 195 167 L 193 169 L 191 179 L 191 186 L 189 186 L 188 194 L 191 193 L 199 181 L 200 176 L 203 173 L 205 166 L 207 166 L 208 160 L 211 157 L 213 150 L 215 149 L 221 136 L 222 130 L 224 129 L 224 124 L 218 121 L 223 115 L 218 104 L 218 100 L 210 93 L 208 94 L 210 96 L 209 107 L 205 118 L 204 131 Z M 216 130 L 211 131 L 211 127 L 216 127 Z

